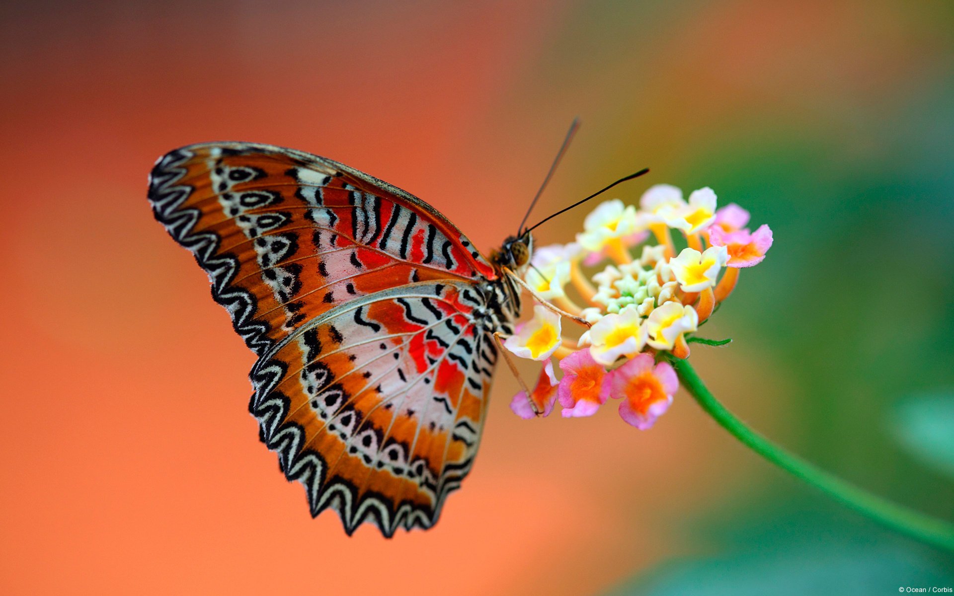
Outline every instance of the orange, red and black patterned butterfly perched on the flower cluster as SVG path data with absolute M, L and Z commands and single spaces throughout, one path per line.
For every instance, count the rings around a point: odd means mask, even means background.
M 312 516 L 435 524 L 481 440 L 529 231 L 487 258 L 401 189 L 252 143 L 160 157 L 149 201 L 258 356 L 249 410 Z

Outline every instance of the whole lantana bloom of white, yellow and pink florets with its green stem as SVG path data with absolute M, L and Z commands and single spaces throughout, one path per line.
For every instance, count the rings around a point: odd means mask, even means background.
M 546 416 L 554 407 L 555 393 L 563 417 L 591 416 L 612 396 L 619 400 L 620 417 L 645 430 L 667 411 L 682 380 L 714 420 L 766 460 L 882 524 L 927 544 L 954 550 L 954 526 L 885 502 L 786 455 L 722 407 L 686 361 L 692 340 L 714 346 L 731 341 L 686 336 L 695 333 L 699 322 L 712 316 L 716 306 L 731 295 L 740 268 L 760 262 L 772 246 L 769 227 L 763 225 L 751 233 L 745 228 L 748 221 L 748 212 L 735 204 L 716 211 L 716 194 L 708 188 L 693 193 L 686 203 L 677 188 L 657 185 L 643 195 L 639 211 L 618 200 L 597 207 L 579 236 L 590 253 L 582 259 L 566 259 L 570 282 L 582 298 L 582 306 L 563 294 L 566 281 L 554 273 L 558 264 L 548 269 L 549 275 L 541 276 L 547 277 L 546 284 L 534 274 L 523 280 L 536 298 L 547 303 L 548 298 L 541 295 L 550 291 L 557 304 L 548 304 L 550 310 L 536 306 L 533 319 L 507 339 L 508 349 L 500 351 L 514 372 L 510 351 L 547 360 L 533 391 L 525 388 L 514 397 L 511 409 L 521 418 Z M 627 242 L 632 242 L 632 232 L 640 232 L 642 227 L 653 233 L 657 246 L 644 247 L 641 257 L 634 259 Z M 678 257 L 673 228 L 683 233 L 688 245 Z M 587 279 L 580 260 L 594 265 L 607 256 L 613 264 Z M 543 260 L 550 265 L 549 258 Z M 726 265 L 728 269 L 723 271 Z M 555 286 L 550 277 L 557 278 Z M 539 292 L 533 292 L 534 286 Z M 560 339 L 560 316 L 586 328 L 574 349 Z M 566 341 L 570 343 L 571 339 Z M 563 374 L 559 381 L 550 360 L 554 354 Z

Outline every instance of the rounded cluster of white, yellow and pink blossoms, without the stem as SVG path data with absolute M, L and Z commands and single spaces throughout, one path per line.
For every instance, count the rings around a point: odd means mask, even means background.
M 734 203 L 716 209 L 710 188 L 685 200 L 674 186 L 658 184 L 639 209 L 606 201 L 586 217 L 575 242 L 537 249 L 525 281 L 540 303 L 504 347 L 544 368 L 532 390 L 514 396 L 513 412 L 547 416 L 559 401 L 564 417 L 591 416 L 613 398 L 624 421 L 652 427 L 679 384 L 660 353 L 688 358 L 693 334 L 736 287 L 739 269 L 756 265 L 772 246 L 769 227 L 750 232 L 748 222 Z M 678 253 L 674 230 L 685 245 Z M 567 315 L 586 328 L 578 339 L 563 335 Z

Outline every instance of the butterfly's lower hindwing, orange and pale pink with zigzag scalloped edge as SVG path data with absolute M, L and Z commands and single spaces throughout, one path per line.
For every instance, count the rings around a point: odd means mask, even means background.
M 312 514 L 339 511 L 385 535 L 429 527 L 467 475 L 497 358 L 461 282 L 421 282 L 304 324 L 252 372 L 251 410 Z M 477 312 L 475 312 L 477 311 Z

